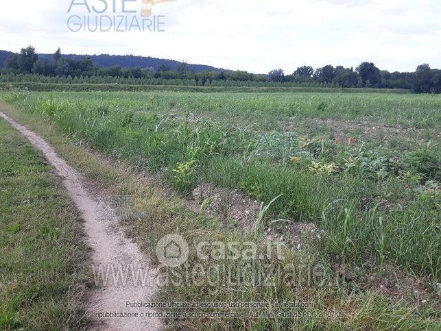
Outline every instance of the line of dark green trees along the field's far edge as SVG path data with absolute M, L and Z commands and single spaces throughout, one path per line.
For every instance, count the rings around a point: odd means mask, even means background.
M 158 70 L 153 68 L 121 68 L 119 65 L 101 67 L 93 64 L 86 56 L 81 60 L 66 59 L 58 49 L 53 59 L 40 59 L 32 46 L 13 53 L 5 60 L 1 73 L 35 74 L 48 77 L 121 77 L 124 79 L 158 79 L 191 81 L 196 85 L 213 84 L 270 86 L 326 86 L 342 88 L 405 88 L 415 93 L 441 93 L 441 70 L 431 69 L 429 64 L 421 64 L 415 72 L 400 73 L 382 71 L 372 62 L 362 62 L 354 70 L 344 66 L 326 65 L 313 69 L 312 66 L 299 66 L 294 73 L 285 75 L 283 69 L 274 69 L 267 75 L 248 73 L 247 71 L 201 71 L 194 72 L 186 63 L 179 63 L 174 70 L 165 64 Z

